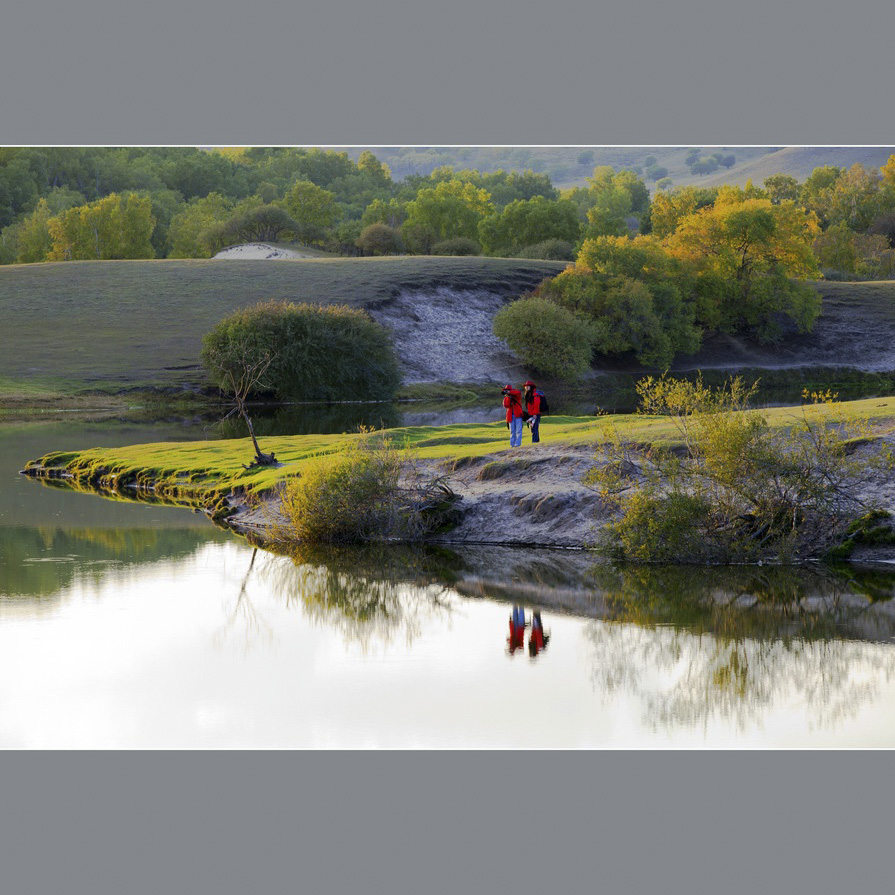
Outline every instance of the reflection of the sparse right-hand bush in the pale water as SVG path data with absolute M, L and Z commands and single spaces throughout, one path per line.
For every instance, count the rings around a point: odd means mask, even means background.
M 834 727 L 895 673 L 889 645 L 843 639 L 895 634 L 891 607 L 855 595 L 857 570 L 606 567 L 597 576 L 611 621 L 588 629 L 595 679 L 607 693 L 638 695 L 654 729 L 723 720 L 743 730 L 793 701 L 812 727 Z

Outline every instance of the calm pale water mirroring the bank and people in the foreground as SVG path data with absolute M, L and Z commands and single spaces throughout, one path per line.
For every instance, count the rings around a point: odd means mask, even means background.
M 0 747 L 895 745 L 886 568 L 588 572 L 580 553 L 277 556 L 18 475 L 201 426 L 0 426 Z M 514 604 L 546 648 L 508 648 Z

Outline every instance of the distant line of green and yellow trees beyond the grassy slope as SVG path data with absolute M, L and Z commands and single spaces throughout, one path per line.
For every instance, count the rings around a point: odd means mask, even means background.
M 282 147 L 12 147 L 0 149 L 0 263 L 208 258 L 250 241 L 572 261 L 588 239 L 666 239 L 725 190 L 651 196 L 641 171 L 609 166 L 564 191 L 532 170 L 442 166 L 394 179 L 370 151 L 354 161 Z M 816 222 L 811 248 L 825 275 L 895 275 L 895 157 L 879 170 L 816 168 L 804 183 L 777 174 L 746 193 Z

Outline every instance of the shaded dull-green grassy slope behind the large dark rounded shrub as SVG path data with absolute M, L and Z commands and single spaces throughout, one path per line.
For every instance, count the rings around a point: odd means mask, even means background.
M 517 296 L 565 265 L 500 258 L 81 261 L 0 267 L 0 398 L 204 381 L 202 336 L 230 311 L 276 298 L 368 305 L 450 286 Z

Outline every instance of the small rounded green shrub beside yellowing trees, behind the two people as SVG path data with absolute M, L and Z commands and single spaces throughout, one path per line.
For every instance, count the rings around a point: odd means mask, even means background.
M 494 335 L 548 376 L 576 379 L 590 366 L 591 327 L 544 298 L 521 298 L 501 308 Z

